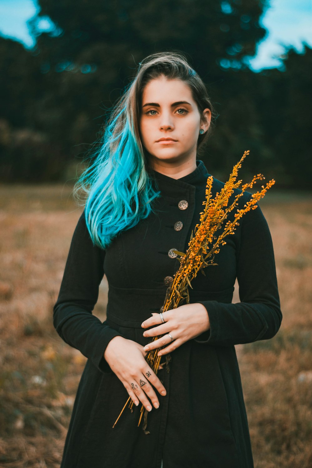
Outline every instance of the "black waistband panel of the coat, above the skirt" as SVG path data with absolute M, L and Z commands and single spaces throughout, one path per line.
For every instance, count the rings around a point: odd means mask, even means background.
M 141 328 L 153 312 L 161 312 L 167 288 L 138 289 L 109 285 L 107 319 L 123 327 Z M 189 303 L 216 300 L 231 303 L 234 286 L 222 291 L 194 291 L 189 288 Z M 186 304 L 185 301 L 180 305 Z

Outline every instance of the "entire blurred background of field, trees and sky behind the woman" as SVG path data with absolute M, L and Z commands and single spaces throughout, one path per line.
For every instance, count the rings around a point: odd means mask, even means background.
M 86 362 L 52 324 L 73 184 L 138 63 L 171 50 L 218 114 L 209 173 L 227 180 L 249 149 L 243 183 L 276 180 L 259 205 L 283 322 L 236 351 L 255 468 L 312 466 L 312 2 L 0 0 L 0 467 L 59 466 Z M 104 276 L 102 320 L 106 303 Z

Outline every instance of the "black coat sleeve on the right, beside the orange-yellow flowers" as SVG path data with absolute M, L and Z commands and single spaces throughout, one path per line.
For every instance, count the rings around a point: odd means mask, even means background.
M 260 206 L 245 213 L 240 223 L 236 258 L 241 302 L 198 301 L 207 309 L 210 329 L 194 338 L 197 343 L 229 346 L 266 340 L 281 325 L 273 243 Z

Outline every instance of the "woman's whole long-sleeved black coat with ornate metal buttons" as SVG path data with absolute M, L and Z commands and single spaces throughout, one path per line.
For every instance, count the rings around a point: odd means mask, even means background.
M 160 311 L 167 285 L 179 260 L 170 249 L 185 252 L 203 211 L 209 176 L 203 161 L 175 180 L 152 171 L 161 197 L 157 212 L 123 231 L 105 251 L 94 247 L 81 215 L 73 234 L 54 326 L 61 338 L 86 356 L 61 468 L 252 468 L 246 409 L 235 344 L 274 336 L 281 324 L 274 251 L 260 206 L 247 212 L 234 235 L 226 237 L 215 261 L 194 279 L 190 302 L 208 312 L 210 330 L 171 352 L 170 372 L 158 371 L 167 390 L 152 408 L 147 430 L 138 427 L 141 404 L 131 413 L 129 395 L 103 357 L 117 335 L 142 345 L 141 323 Z M 213 179 L 212 196 L 224 183 Z M 235 189 L 234 195 L 241 192 Z M 230 201 L 233 199 L 232 195 Z M 242 208 L 250 192 L 239 198 Z M 185 200 L 187 203 L 180 203 Z M 230 215 L 233 216 L 233 210 Z M 232 219 L 230 216 L 229 219 Z M 181 221 L 180 230 L 175 229 Z M 106 274 L 107 320 L 92 314 Z M 235 279 L 239 303 L 232 304 Z

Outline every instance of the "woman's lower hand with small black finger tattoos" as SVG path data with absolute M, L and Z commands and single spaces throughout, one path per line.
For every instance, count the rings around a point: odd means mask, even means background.
M 151 411 L 152 406 L 146 395 L 151 398 L 155 408 L 159 407 L 159 400 L 152 385 L 163 396 L 167 392 L 148 365 L 145 356 L 144 346 L 123 336 L 114 336 L 104 352 L 104 359 L 118 379 L 123 382 L 133 402 L 138 406 L 138 400 L 140 400 L 145 408 Z

